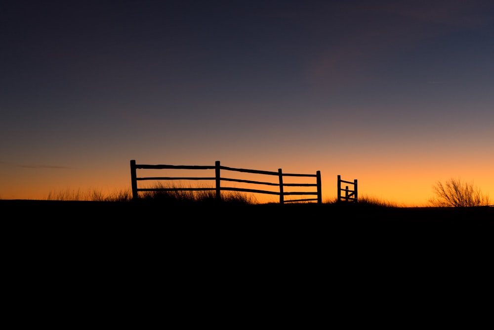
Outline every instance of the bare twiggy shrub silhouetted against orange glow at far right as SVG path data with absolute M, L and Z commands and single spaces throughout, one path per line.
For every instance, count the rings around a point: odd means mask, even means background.
M 435 197 L 429 199 L 433 206 L 470 207 L 490 205 L 489 195 L 485 195 L 473 184 L 450 179 L 446 183 L 438 181 L 432 188 Z

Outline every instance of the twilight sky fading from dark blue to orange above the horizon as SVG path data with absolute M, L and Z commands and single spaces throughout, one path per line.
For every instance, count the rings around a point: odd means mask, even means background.
M 490 0 L 2 1 L 0 41 L 1 199 L 128 189 L 131 159 L 494 197 Z

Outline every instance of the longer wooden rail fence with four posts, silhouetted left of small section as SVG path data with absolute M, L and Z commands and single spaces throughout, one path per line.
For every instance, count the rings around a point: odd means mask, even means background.
M 137 169 L 181 169 L 181 170 L 214 170 L 214 177 L 137 177 Z M 259 182 L 259 181 L 250 181 L 250 180 L 240 180 L 240 179 L 231 179 L 231 178 L 222 178 L 220 173 L 221 171 L 236 171 L 236 172 L 244 172 L 244 173 L 253 173 L 253 174 L 264 174 L 264 175 L 273 175 L 278 176 L 279 183 L 271 183 L 271 182 Z M 283 183 L 284 177 L 314 177 L 316 178 L 315 184 L 287 184 Z M 247 170 L 241 168 L 232 168 L 221 166 L 219 161 L 216 161 L 214 166 L 189 166 L 189 165 L 143 165 L 136 164 L 135 160 L 130 161 L 130 178 L 132 181 L 132 199 L 136 200 L 139 198 L 139 191 L 184 191 L 184 190 L 216 190 L 216 199 L 221 200 L 221 191 L 242 191 L 242 192 L 254 192 L 254 193 L 264 193 L 264 194 L 272 194 L 280 196 L 280 203 L 287 202 L 302 202 L 302 201 L 317 201 L 318 204 L 322 203 L 322 192 L 321 192 L 321 171 L 317 171 L 316 174 L 289 174 L 283 173 L 282 169 L 278 169 L 278 172 L 270 172 L 270 171 L 258 171 L 258 170 Z M 214 180 L 216 185 L 214 188 L 137 188 L 137 181 L 142 180 Z M 233 187 L 222 187 L 221 182 L 239 182 L 239 183 L 247 183 L 247 184 L 256 184 L 256 185 L 267 185 L 267 186 L 277 186 L 279 187 L 279 191 L 270 191 L 270 190 L 260 190 L 260 189 L 244 189 L 244 188 L 233 188 Z M 317 187 L 317 191 L 284 191 L 284 187 Z M 285 196 L 287 195 L 316 195 L 317 198 L 304 198 L 304 199 L 290 199 L 285 200 Z

